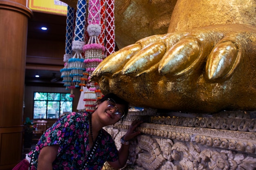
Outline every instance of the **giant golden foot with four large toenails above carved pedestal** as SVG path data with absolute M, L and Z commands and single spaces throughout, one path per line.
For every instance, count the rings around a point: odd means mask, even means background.
M 182 112 L 256 109 L 256 28 L 219 24 L 153 35 L 108 56 L 91 75 L 132 105 Z

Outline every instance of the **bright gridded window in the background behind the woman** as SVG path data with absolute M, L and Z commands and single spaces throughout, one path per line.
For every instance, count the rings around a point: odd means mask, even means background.
M 72 111 L 72 103 L 70 93 L 34 92 L 34 119 L 57 119 Z

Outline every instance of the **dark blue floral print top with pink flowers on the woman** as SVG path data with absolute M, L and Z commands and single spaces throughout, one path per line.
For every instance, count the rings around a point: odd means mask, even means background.
M 54 170 L 101 170 L 106 161 L 117 161 L 118 151 L 115 142 L 101 129 L 101 134 L 91 161 L 87 160 L 89 148 L 89 113 L 70 113 L 59 118 L 56 123 L 41 136 L 34 150 L 29 152 L 31 170 L 37 169 L 37 159 L 44 146 L 58 145 L 58 155 L 53 162 Z M 101 138 L 99 139 L 99 136 Z M 93 148 L 93 147 L 92 147 Z M 34 157 L 34 159 L 32 158 Z

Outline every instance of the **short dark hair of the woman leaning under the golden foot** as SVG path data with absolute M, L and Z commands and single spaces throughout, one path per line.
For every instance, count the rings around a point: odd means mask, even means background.
M 124 114 L 125 115 L 124 115 L 124 117 L 122 117 L 122 120 L 123 120 L 126 117 L 127 113 L 128 113 L 129 103 L 126 100 L 118 97 L 114 93 L 108 93 L 108 94 L 104 95 L 101 99 L 99 99 L 98 103 L 102 103 L 102 102 L 104 102 L 107 99 L 113 99 L 113 100 L 115 100 L 115 102 L 117 104 L 124 105 Z

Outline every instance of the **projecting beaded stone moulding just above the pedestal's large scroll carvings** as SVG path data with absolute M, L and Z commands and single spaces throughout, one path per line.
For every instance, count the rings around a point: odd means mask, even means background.
M 145 126 L 145 127 L 143 127 Z M 198 144 L 255 153 L 256 134 L 253 132 L 234 132 L 229 130 L 188 128 L 177 126 L 164 126 L 166 130 L 159 130 L 153 124 L 145 124 L 138 130 L 144 134 L 158 137 L 168 137 L 181 141 L 191 141 Z M 163 125 L 159 125 L 163 126 Z

